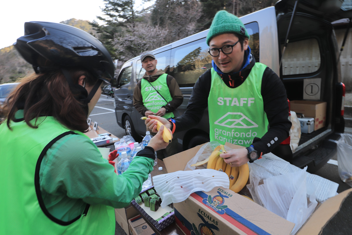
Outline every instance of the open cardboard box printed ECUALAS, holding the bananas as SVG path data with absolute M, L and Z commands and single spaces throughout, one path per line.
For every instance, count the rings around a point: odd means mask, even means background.
M 243 148 L 226 143 L 231 148 Z M 201 146 L 164 159 L 167 171 L 182 171 Z M 340 211 L 341 203 L 352 189 L 319 204 L 297 234 L 318 235 Z M 186 235 L 276 234 L 289 235 L 294 223 L 279 217 L 230 189 L 217 187 L 209 192 L 192 193 L 186 200 L 174 203 L 176 225 Z M 319 223 L 318 223 L 318 222 Z M 349 225 L 350 226 L 350 225 Z

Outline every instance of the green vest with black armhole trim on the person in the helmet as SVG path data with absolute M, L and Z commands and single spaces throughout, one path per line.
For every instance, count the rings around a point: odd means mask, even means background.
M 37 123 L 34 129 L 24 121 L 11 122 L 12 131 L 6 122 L 0 125 L 1 233 L 113 235 L 115 211 L 111 206 L 87 204 L 82 215 L 69 222 L 46 210 L 40 193 L 40 163 L 54 142 L 74 132 L 53 117 L 40 117 Z

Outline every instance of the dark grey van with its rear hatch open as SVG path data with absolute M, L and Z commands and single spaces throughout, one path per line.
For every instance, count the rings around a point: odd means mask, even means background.
M 336 143 L 331 140 L 337 140 L 339 133 L 344 132 L 345 90 L 340 82 L 339 48 L 331 22 L 351 17 L 352 10 L 348 7 L 351 0 L 341 4 L 341 0 L 281 0 L 275 6 L 241 17 L 256 61 L 279 75 L 289 100 L 304 99 L 304 88 L 307 88 L 304 84 L 308 79 L 319 83 L 319 92 L 312 99 L 327 103 L 325 126 L 310 134 L 302 133 L 294 152 L 289 139 L 272 151 L 298 167 L 308 165 L 309 172 L 319 169 L 336 153 Z M 197 78 L 205 72 L 204 68 L 211 67 L 207 33 L 205 30 L 152 51 L 158 60 L 157 68 L 172 75 L 181 88 L 184 99 L 177 109 L 180 115 L 186 110 Z M 132 105 L 134 87 L 144 73 L 140 57 L 132 58 L 122 66 L 115 89 L 117 123 L 135 139 L 144 136 L 146 130 L 144 121 L 140 120 L 142 115 Z M 183 149 L 209 141 L 208 110 L 198 125 L 177 136 Z

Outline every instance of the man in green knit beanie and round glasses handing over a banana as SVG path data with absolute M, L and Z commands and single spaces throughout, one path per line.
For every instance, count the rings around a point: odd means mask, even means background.
M 231 166 L 270 153 L 288 138 L 291 128 L 285 87 L 274 71 L 255 61 L 249 38 L 238 17 L 227 11 L 216 13 L 207 35 L 213 68 L 197 80 L 183 115 L 172 122 L 156 117 L 178 132 L 199 123 L 208 108 L 210 141 L 246 147 L 220 154 Z M 155 123 L 146 120 L 149 129 Z

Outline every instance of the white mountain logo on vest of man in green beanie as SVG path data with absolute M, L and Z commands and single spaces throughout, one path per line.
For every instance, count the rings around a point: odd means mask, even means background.
M 216 125 L 226 126 L 230 128 L 254 128 L 258 127 L 251 119 L 247 118 L 243 113 L 227 112 L 224 116 L 215 121 Z

